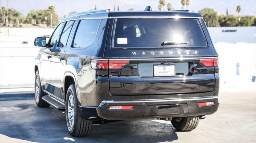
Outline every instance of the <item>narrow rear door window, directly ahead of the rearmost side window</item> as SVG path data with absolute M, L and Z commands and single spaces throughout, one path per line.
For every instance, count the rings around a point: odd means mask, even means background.
M 60 43 L 58 47 L 66 47 L 67 42 L 68 42 L 68 36 L 70 34 L 70 31 L 74 25 L 74 20 L 73 21 L 68 21 L 66 22 L 66 25 L 62 31 L 62 35 L 60 37 Z

